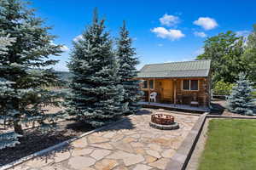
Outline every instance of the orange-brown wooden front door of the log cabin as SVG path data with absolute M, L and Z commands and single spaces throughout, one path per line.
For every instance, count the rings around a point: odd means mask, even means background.
M 173 85 L 172 80 L 162 80 L 162 93 L 161 93 L 161 100 L 163 103 L 173 103 Z

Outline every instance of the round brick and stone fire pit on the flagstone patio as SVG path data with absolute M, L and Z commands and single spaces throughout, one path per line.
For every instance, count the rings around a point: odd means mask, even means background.
M 160 113 L 151 115 L 149 126 L 161 130 L 172 130 L 179 127 L 177 122 L 174 122 L 174 116 Z

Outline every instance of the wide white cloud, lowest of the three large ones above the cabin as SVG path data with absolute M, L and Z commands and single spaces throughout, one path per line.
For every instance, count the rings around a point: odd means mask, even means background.
M 172 29 L 167 30 L 164 27 L 156 27 L 156 28 L 152 29 L 151 31 L 156 34 L 156 37 L 167 38 L 172 41 L 178 40 L 182 37 L 185 37 L 183 32 L 180 30 L 172 30 Z

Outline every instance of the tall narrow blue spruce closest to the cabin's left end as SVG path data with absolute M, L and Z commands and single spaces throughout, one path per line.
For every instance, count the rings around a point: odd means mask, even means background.
M 119 76 L 121 78 L 120 84 L 125 89 L 123 103 L 128 103 L 128 113 L 134 113 L 140 109 L 138 101 L 141 99 L 142 91 L 139 88 L 139 81 L 134 79 L 137 77 L 136 65 L 139 64 L 137 57 L 135 57 L 135 48 L 131 47 L 131 37 L 129 37 L 129 31 L 123 26 L 119 31 L 117 57 L 119 60 Z

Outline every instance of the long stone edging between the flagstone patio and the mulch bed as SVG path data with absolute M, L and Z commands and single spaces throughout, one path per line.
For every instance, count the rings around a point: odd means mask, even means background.
M 135 114 L 135 115 L 136 115 L 136 114 Z M 66 140 L 66 141 L 61 142 L 60 144 L 55 144 L 55 145 L 53 145 L 53 146 L 50 146 L 49 148 L 46 148 L 46 149 L 44 149 L 44 150 L 40 150 L 40 151 L 35 152 L 35 153 L 33 153 L 33 154 L 29 155 L 29 156 L 22 157 L 22 158 L 20 158 L 20 159 L 18 159 L 18 160 L 16 160 L 16 161 L 12 161 L 12 162 L 10 162 L 9 164 L 6 164 L 6 165 L 3 165 L 2 167 L 0 167 L 0 170 L 7 170 L 7 169 L 9 169 L 9 168 L 11 168 L 11 167 L 15 167 L 15 166 L 17 166 L 17 165 L 19 165 L 19 164 L 21 164 L 21 163 L 24 163 L 24 162 L 26 162 L 26 161 L 29 161 L 29 160 L 31 160 L 32 158 L 35 158 L 35 157 L 37 157 L 37 156 L 42 156 L 42 155 L 44 155 L 44 154 L 49 153 L 50 151 L 60 149 L 61 147 L 66 146 L 66 145 L 72 143 L 72 142 L 75 141 L 75 140 L 81 139 L 81 138 L 83 138 L 84 136 L 87 136 L 87 135 L 89 135 L 89 134 L 91 134 L 91 133 L 96 133 L 96 132 L 98 132 L 98 131 L 105 130 L 105 129 L 107 129 L 108 127 L 112 127 L 112 126 L 115 125 L 116 123 L 123 122 L 123 121 L 125 121 L 126 118 L 129 118 L 129 117 L 135 116 L 135 115 L 130 115 L 130 116 L 122 117 L 122 118 L 121 118 L 119 121 L 117 121 L 117 122 L 113 122 L 113 123 L 111 123 L 111 124 L 109 124 L 109 125 L 106 125 L 106 126 L 104 126 L 104 127 L 96 128 L 96 129 L 91 130 L 91 131 L 89 131 L 89 132 L 87 132 L 87 133 L 81 134 L 79 137 L 75 137 L 75 138 L 73 138 L 73 139 L 68 139 L 68 140 Z

